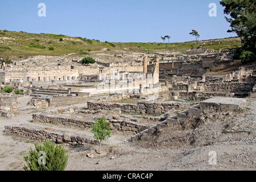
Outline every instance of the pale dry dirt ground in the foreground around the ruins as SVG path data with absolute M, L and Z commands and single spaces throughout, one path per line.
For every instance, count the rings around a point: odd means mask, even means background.
M 19 98 L 19 104 L 30 100 Z M 80 104 L 79 106 L 82 106 Z M 63 107 L 61 107 L 63 108 Z M 51 110 L 49 108 L 48 110 Z M 40 110 L 39 110 L 40 111 Z M 255 170 L 256 98 L 247 107 L 221 121 L 206 123 L 194 130 L 171 134 L 163 130 L 149 140 L 126 142 L 131 135 L 113 135 L 98 146 L 64 146 L 69 155 L 67 171 L 164 171 L 164 170 Z M 20 171 L 23 156 L 36 140 L 9 135 L 6 125 L 32 120 L 34 111 L 18 111 L 11 119 L 0 118 L 0 170 Z

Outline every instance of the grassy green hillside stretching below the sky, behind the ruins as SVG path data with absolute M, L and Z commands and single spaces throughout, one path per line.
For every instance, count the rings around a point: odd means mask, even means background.
M 26 58 L 34 55 L 63 56 L 75 53 L 88 55 L 92 51 L 154 52 L 155 50 L 180 51 L 193 48 L 230 49 L 240 46 L 239 38 L 201 40 L 184 43 L 110 43 L 108 41 L 70 37 L 55 34 L 32 34 L 0 30 L 0 57 L 5 59 Z

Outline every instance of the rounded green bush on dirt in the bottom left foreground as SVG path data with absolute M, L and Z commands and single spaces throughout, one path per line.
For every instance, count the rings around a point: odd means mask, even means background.
M 26 171 L 64 171 L 68 164 L 67 151 L 61 145 L 51 141 L 42 144 L 35 143 L 35 149 L 30 147 L 29 154 L 23 156 L 27 166 Z

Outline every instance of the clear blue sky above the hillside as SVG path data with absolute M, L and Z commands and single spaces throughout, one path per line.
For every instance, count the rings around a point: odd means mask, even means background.
M 46 17 L 39 17 L 39 3 L 46 4 Z M 216 3 L 217 16 L 208 7 Z M 101 42 L 170 42 L 236 36 L 226 32 L 229 23 L 216 0 L 1 0 L 0 30 L 51 33 Z M 168 42 L 168 40 L 166 40 Z

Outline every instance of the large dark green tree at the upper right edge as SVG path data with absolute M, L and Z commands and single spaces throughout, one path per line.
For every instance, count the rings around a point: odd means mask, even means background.
M 228 32 L 236 32 L 240 36 L 242 48 L 256 53 L 256 1 L 222 0 L 220 4 L 225 7 L 224 14 L 230 16 L 225 16 L 231 27 Z

